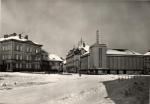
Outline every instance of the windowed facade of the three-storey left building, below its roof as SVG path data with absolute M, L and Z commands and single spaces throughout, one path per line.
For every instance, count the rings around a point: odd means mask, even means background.
M 2 58 L 7 71 L 40 71 L 41 46 L 17 40 L 3 41 Z M 38 57 L 35 59 L 35 57 Z

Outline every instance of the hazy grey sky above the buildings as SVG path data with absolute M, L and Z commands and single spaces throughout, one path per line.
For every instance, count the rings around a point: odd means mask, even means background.
M 135 0 L 1 0 L 0 36 L 24 33 L 65 58 L 82 39 L 108 48 L 150 49 L 150 2 Z

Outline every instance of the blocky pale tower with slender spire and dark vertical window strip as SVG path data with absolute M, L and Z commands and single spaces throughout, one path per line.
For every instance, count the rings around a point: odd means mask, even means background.
M 90 46 L 90 69 L 106 69 L 107 46 L 102 42 L 102 39 L 99 41 L 99 37 L 99 30 L 97 30 L 96 43 Z

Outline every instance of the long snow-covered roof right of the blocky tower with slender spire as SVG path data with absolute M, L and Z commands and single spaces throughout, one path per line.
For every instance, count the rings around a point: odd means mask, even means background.
M 108 49 L 107 54 L 115 54 L 115 55 L 142 55 L 138 52 L 134 52 L 129 49 Z

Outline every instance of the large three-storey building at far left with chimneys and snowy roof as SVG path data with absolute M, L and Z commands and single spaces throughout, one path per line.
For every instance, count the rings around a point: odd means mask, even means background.
M 0 38 L 0 71 L 40 71 L 41 47 L 27 35 L 4 35 Z

